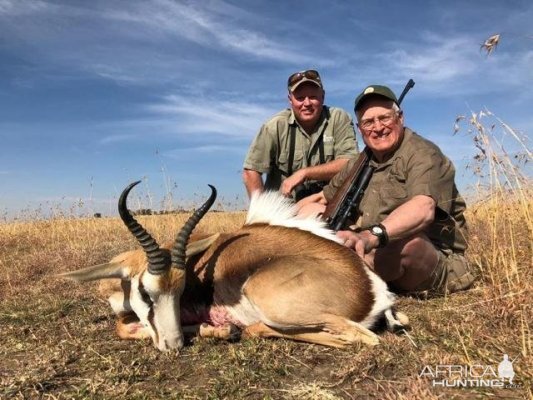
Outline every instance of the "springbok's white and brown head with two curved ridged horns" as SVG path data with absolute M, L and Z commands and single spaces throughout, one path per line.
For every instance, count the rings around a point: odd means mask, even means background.
M 111 262 L 62 276 L 87 282 L 105 278 L 122 279 L 123 292 L 110 297 L 117 314 L 133 311 L 144 332 L 152 338 L 161 351 L 179 350 L 183 347 L 183 332 L 180 323 L 180 297 L 185 288 L 185 260 L 189 254 L 187 242 L 201 218 L 215 201 L 216 189 L 211 188 L 209 199 L 197 209 L 178 233 L 172 250 L 161 249 L 155 239 L 131 215 L 126 200 L 131 189 L 140 181 L 130 184 L 122 192 L 118 211 L 120 218 L 135 236 L 144 251 L 127 252 Z

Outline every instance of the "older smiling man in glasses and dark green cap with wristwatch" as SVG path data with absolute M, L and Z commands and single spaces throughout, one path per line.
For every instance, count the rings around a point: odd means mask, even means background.
M 398 100 L 386 86 L 365 88 L 355 99 L 355 114 L 375 169 L 353 221 L 356 229 L 337 235 L 398 292 L 444 294 L 470 287 L 466 206 L 451 161 L 404 127 Z M 322 192 L 301 201 L 300 213 L 323 211 L 354 162 Z

